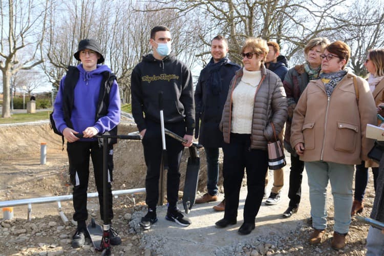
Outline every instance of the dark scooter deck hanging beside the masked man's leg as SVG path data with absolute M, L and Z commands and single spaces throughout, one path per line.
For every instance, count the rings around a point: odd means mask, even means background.
M 184 181 L 183 206 L 186 214 L 195 204 L 197 183 L 199 178 L 200 157 L 195 146 L 188 147 L 189 158 Z

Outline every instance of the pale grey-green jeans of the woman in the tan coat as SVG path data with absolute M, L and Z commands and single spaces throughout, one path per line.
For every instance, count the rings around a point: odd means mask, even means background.
M 330 181 L 334 205 L 333 229 L 340 234 L 348 233 L 351 223 L 354 165 L 315 161 L 305 162 L 305 168 L 308 175 L 312 227 L 327 228 L 327 185 Z

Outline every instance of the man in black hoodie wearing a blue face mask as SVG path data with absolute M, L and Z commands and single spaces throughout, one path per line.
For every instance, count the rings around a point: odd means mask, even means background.
M 132 114 L 142 137 L 147 166 L 145 177 L 147 214 L 140 226 L 151 228 L 157 222 L 156 204 L 159 199 L 159 177 L 162 154 L 159 93 L 163 93 L 165 128 L 184 139 L 181 144 L 166 137 L 168 161 L 166 220 L 188 226 L 191 222 L 177 207 L 180 183 L 180 160 L 184 146 L 190 146 L 195 128 L 195 104 L 192 75 L 185 63 L 171 52 L 171 37 L 165 26 L 151 30 L 153 54 L 143 56 L 132 71 Z M 162 195 L 161 195 L 162 196 Z

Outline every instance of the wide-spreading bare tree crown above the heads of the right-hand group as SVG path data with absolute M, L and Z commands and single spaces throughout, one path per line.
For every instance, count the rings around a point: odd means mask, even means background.
M 209 45 L 212 35 L 222 34 L 229 38 L 229 55 L 241 62 L 239 49 L 246 37 L 256 36 L 275 40 L 285 49 L 287 58 L 300 53 L 306 42 L 316 36 L 333 36 L 348 26 L 351 16 L 340 13 L 346 0 L 299 1 L 299 0 L 152 0 L 160 7 L 146 11 L 170 9 L 179 16 L 198 17 L 205 25 L 196 29 L 203 44 Z M 343 7 L 343 8 L 340 8 Z M 144 11 L 144 9 L 142 9 Z M 194 24 L 196 24 L 196 19 Z M 340 22 L 335 22 L 335 21 Z M 199 49 L 203 49 L 200 47 Z M 197 52 L 197 56 L 209 54 Z

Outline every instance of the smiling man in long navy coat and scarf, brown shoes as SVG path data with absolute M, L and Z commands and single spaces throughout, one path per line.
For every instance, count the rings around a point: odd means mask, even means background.
M 211 55 L 208 65 L 200 72 L 195 90 L 196 130 L 195 138 L 204 146 L 207 159 L 207 190 L 196 203 L 214 202 L 218 200 L 219 181 L 219 148 L 223 146 L 223 134 L 219 130 L 221 113 L 227 98 L 229 84 L 234 72 L 240 66 L 227 57 L 228 42 L 218 35 L 211 41 Z M 200 131 L 199 131 L 200 122 Z M 225 208 L 225 199 L 214 206 L 217 211 Z

